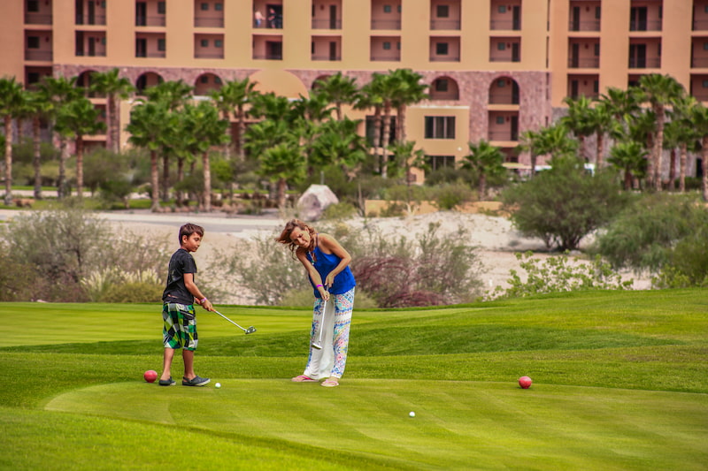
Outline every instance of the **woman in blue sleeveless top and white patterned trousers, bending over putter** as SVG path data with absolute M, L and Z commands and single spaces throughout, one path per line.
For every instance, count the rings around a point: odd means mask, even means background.
M 292 380 L 307 383 L 327 378 L 322 386 L 338 386 L 347 362 L 354 286 L 357 285 L 349 267 L 351 255 L 334 237 L 320 234 L 298 219 L 285 224 L 276 240 L 288 246 L 303 264 L 315 295 L 310 355 L 304 373 Z M 321 349 L 313 348 L 320 328 L 324 329 Z

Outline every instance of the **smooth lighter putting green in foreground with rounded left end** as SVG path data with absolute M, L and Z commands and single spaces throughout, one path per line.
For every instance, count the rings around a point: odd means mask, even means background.
M 219 379 L 215 389 L 215 381 L 104 384 L 46 409 L 278 439 L 400 467 L 704 469 L 708 459 L 705 394 L 346 378 L 332 389 L 287 379 Z

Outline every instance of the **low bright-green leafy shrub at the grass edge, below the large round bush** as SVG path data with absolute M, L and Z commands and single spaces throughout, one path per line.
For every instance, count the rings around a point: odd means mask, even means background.
M 533 253 L 516 254 L 519 266 L 526 271 L 526 277 L 519 276 L 517 270 L 510 270 L 508 288 L 496 286 L 485 296 L 487 300 L 524 298 L 546 292 L 627 290 L 632 289 L 632 280 L 622 281 L 620 274 L 612 270 L 609 263 L 598 255 L 591 262 L 578 262 L 568 254 L 558 255 L 541 261 Z

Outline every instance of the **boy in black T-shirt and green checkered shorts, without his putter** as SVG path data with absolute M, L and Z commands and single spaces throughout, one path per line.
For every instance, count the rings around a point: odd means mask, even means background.
M 204 228 L 196 224 L 184 224 L 180 228 L 180 248 L 170 258 L 167 272 L 167 286 L 162 294 L 163 339 L 165 356 L 160 386 L 173 386 L 170 367 L 174 351 L 182 349 L 184 361 L 183 386 L 204 386 L 209 378 L 196 376 L 194 372 L 194 351 L 196 350 L 196 312 L 194 304 L 207 311 L 213 311 L 212 303 L 199 291 L 194 277 L 196 263 L 190 252 L 196 252 L 202 244 Z

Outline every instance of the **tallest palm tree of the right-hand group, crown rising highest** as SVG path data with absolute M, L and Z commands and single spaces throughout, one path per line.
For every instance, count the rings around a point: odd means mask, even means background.
M 657 133 L 652 149 L 653 174 L 650 173 L 650 182 L 654 182 L 657 191 L 661 191 L 662 156 L 664 154 L 664 125 L 666 122 L 666 106 L 673 104 L 685 95 L 683 86 L 670 75 L 650 73 L 639 79 L 639 88 L 643 101 L 649 102 L 651 110 L 657 117 Z

